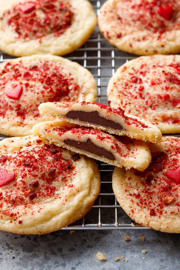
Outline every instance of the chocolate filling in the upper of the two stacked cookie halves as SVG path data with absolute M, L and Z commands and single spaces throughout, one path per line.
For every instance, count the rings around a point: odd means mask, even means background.
M 99 116 L 99 113 L 97 111 L 93 112 L 70 111 L 66 114 L 66 116 L 72 119 L 79 119 L 81 121 L 103 127 L 122 130 L 122 125 L 112 120 L 105 119 L 104 117 Z

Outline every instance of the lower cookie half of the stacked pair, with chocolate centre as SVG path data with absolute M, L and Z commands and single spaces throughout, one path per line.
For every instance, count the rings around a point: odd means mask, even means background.
M 32 133 L 46 138 L 49 143 L 126 169 L 144 170 L 151 161 L 149 148 L 142 140 L 115 137 L 61 120 L 39 123 L 32 128 Z

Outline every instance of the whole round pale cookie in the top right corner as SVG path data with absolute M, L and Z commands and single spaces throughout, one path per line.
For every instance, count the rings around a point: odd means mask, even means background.
M 180 1 L 107 0 L 98 26 L 117 48 L 137 55 L 180 52 Z

